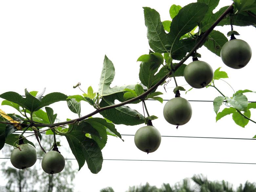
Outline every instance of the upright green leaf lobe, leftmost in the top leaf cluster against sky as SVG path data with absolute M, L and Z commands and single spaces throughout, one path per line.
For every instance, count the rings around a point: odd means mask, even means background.
M 149 7 L 143 7 L 147 37 L 150 48 L 157 53 L 168 52 L 171 42 L 164 32 L 159 13 Z

